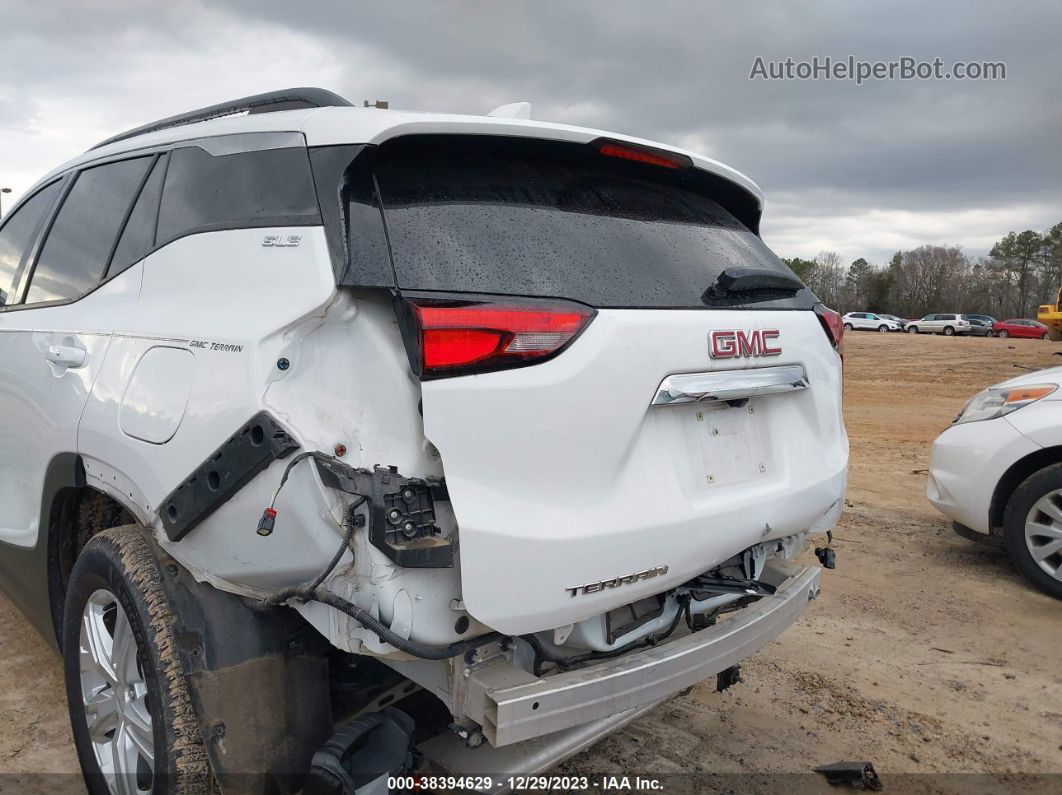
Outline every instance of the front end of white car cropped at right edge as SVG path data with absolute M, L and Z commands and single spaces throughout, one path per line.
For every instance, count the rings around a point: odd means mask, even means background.
M 975 395 L 933 443 L 926 495 L 959 535 L 1001 537 L 1014 567 L 1062 599 L 1062 367 Z

